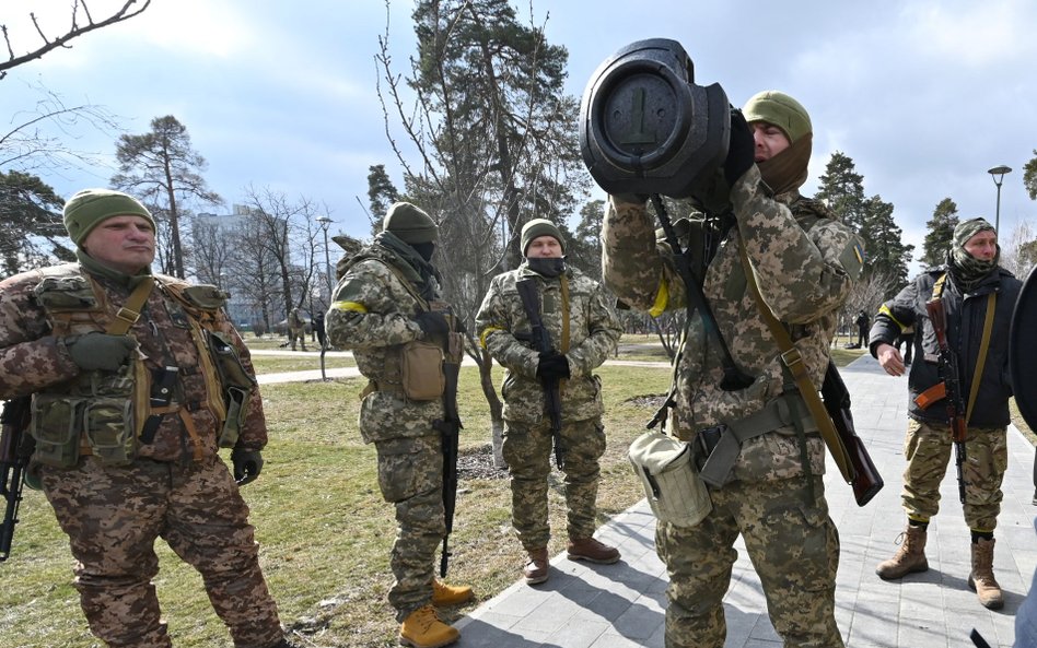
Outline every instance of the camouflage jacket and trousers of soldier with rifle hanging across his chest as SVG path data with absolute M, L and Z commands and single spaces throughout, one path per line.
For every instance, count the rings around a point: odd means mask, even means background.
M 569 303 L 561 279 L 537 274 L 523 262 L 493 278 L 476 328 L 482 345 L 504 368 L 504 461 L 511 474 L 512 517 L 526 551 L 547 546 L 550 538 L 547 487 L 552 447 L 544 386 L 536 377 L 539 355 L 532 349 L 529 318 L 515 282 L 534 279 L 544 327 L 559 353 L 569 360 L 571 378 L 561 386 L 561 446 L 570 539 L 591 538 L 595 529 L 598 459 L 605 453 L 602 385 L 592 372 L 615 351 L 622 329 L 601 283 L 567 267 Z M 568 341 L 562 334 L 568 306 Z M 566 344 L 568 343 L 568 349 Z

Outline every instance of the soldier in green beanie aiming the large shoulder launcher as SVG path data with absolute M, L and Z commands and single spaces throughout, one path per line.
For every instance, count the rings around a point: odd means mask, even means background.
M 839 538 L 825 495 L 825 443 L 811 416 L 773 415 L 807 407 L 797 389 L 788 389 L 789 366 L 769 318 L 794 331 L 809 393 L 825 379 L 839 311 L 861 275 L 863 244 L 824 203 L 800 195 L 813 138 L 800 102 L 761 92 L 732 111 L 730 123 L 723 164 L 730 216 L 692 214 L 681 250 L 715 317 L 689 317 L 672 396 L 656 419 L 690 441 L 711 506 L 696 526 L 657 521 L 655 550 L 669 575 L 665 644 L 724 645 L 722 599 L 741 535 L 784 645 L 840 648 Z M 636 198 L 610 197 L 602 232 L 605 284 L 652 316 L 685 310 L 690 297 L 676 250 L 655 245 L 655 219 Z M 749 387 L 724 385 L 729 363 L 718 335 L 754 378 Z M 750 427 L 747 437 L 742 431 Z

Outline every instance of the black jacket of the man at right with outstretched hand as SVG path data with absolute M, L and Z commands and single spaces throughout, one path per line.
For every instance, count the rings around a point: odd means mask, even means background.
M 900 331 L 914 327 L 913 343 L 917 349 L 921 349 L 921 353 L 914 356 L 908 375 L 908 415 L 919 421 L 944 425 L 947 424 L 947 408 L 942 399 L 928 409 L 922 409 L 914 402 L 914 398 L 942 382 L 936 332 L 933 330 L 925 303 L 933 296 L 936 280 L 945 272 L 947 268 L 943 266 L 921 273 L 896 297 L 883 304 L 869 337 L 872 355 L 875 355 L 881 343 L 896 345 Z M 972 415 L 968 421 L 977 427 L 1004 427 L 1012 420 L 1009 413 L 1009 398 L 1012 396 L 1009 332 L 1022 286 L 1022 282 L 1003 268 L 992 270 L 970 293 L 963 294 L 954 281 L 954 275 L 949 273 L 944 283 L 941 301 L 947 314 L 947 343 L 955 354 L 958 385 L 966 404 L 972 389 L 972 376 L 982 344 L 988 298 L 991 294 L 997 294 L 993 329 L 983 360 L 983 375 L 980 377 L 976 403 L 971 409 Z

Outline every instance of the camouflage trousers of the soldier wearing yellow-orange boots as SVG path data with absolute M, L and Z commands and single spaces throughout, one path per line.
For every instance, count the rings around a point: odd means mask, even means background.
M 382 496 L 396 505 L 396 541 L 389 558 L 396 581 L 388 600 L 401 622 L 432 600 L 435 550 L 446 533 L 443 446 L 438 434 L 374 445 Z

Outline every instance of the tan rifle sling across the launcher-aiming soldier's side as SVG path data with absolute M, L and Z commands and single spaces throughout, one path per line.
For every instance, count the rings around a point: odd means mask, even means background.
M 760 316 L 764 318 L 764 321 L 767 323 L 767 328 L 770 329 L 771 334 L 774 337 L 774 342 L 778 343 L 778 349 L 781 351 L 781 362 L 784 364 L 785 368 L 789 369 L 789 373 L 795 380 L 795 385 L 799 387 L 800 393 L 803 396 L 803 401 L 806 403 L 806 408 L 814 417 L 814 422 L 817 424 L 817 427 L 820 431 L 822 438 L 825 439 L 825 445 L 828 446 L 828 451 L 831 452 L 832 459 L 836 460 L 836 466 L 839 467 L 839 472 L 842 473 L 842 479 L 848 484 L 852 483 L 855 474 L 853 466 L 850 462 L 850 453 L 842 444 L 842 439 L 839 438 L 839 434 L 836 432 L 836 427 L 832 424 L 831 419 L 828 416 L 828 412 L 825 410 L 825 404 L 822 402 L 820 396 L 817 393 L 817 388 L 814 387 L 809 375 L 806 373 L 806 366 L 803 364 L 803 357 L 800 355 L 800 350 L 795 347 L 795 344 L 793 344 L 792 338 L 789 335 L 789 331 L 787 331 L 781 322 L 778 321 L 778 318 L 774 317 L 774 315 L 770 311 L 770 308 L 764 302 L 764 296 L 760 295 L 759 286 L 756 284 L 756 276 L 753 273 L 753 264 L 749 262 L 749 256 L 745 251 L 744 244 L 739 245 L 738 252 L 742 256 L 742 266 L 745 268 L 746 287 L 748 287 L 749 292 L 753 294 L 753 298 L 756 299 L 756 305 L 759 307 Z M 804 469 L 807 470 L 808 468 L 808 466 L 804 467 Z

